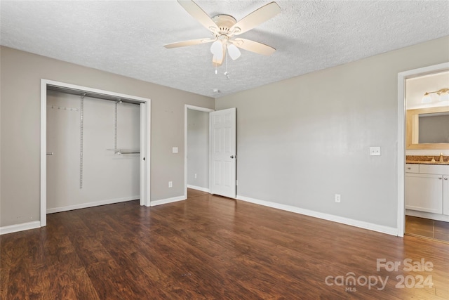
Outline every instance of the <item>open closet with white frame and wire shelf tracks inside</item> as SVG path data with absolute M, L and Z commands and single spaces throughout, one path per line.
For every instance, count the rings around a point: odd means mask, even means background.
M 41 226 L 58 211 L 150 206 L 150 101 L 41 79 Z

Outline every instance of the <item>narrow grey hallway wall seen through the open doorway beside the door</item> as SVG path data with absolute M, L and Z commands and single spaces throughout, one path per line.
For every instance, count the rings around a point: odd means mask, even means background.
M 187 184 L 209 188 L 209 113 L 190 109 L 187 110 Z

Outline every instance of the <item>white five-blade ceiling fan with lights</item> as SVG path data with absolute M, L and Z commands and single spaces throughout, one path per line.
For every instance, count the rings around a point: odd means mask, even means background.
M 276 51 L 275 48 L 257 41 L 237 38 L 239 34 L 252 30 L 257 25 L 262 24 L 280 13 L 281 8 L 279 8 L 279 5 L 276 4 L 276 2 L 271 2 L 258 8 L 253 11 L 253 13 L 246 15 L 246 17 L 239 22 L 237 22 L 232 15 L 221 14 L 210 18 L 209 15 L 192 0 L 178 0 L 177 2 L 187 11 L 187 13 L 198 20 L 201 25 L 210 30 L 213 37 L 209 39 L 178 41 L 176 43 L 163 45 L 166 48 L 177 48 L 213 42 L 212 46 L 210 46 L 210 52 L 213 53 L 212 61 L 215 67 L 222 65 L 227 53 L 229 53 L 232 60 L 239 58 L 241 56 L 239 48 L 263 54 L 265 56 L 269 56 Z

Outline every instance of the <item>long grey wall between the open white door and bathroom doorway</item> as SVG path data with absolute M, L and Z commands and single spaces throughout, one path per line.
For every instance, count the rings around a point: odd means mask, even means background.
M 238 112 L 237 194 L 396 228 L 398 72 L 448 61 L 444 37 L 215 99 Z

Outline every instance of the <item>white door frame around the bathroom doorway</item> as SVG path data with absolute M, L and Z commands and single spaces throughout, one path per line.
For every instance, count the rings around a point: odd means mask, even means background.
M 398 236 L 403 237 L 406 225 L 406 79 L 449 70 L 449 63 L 420 67 L 398 73 Z

